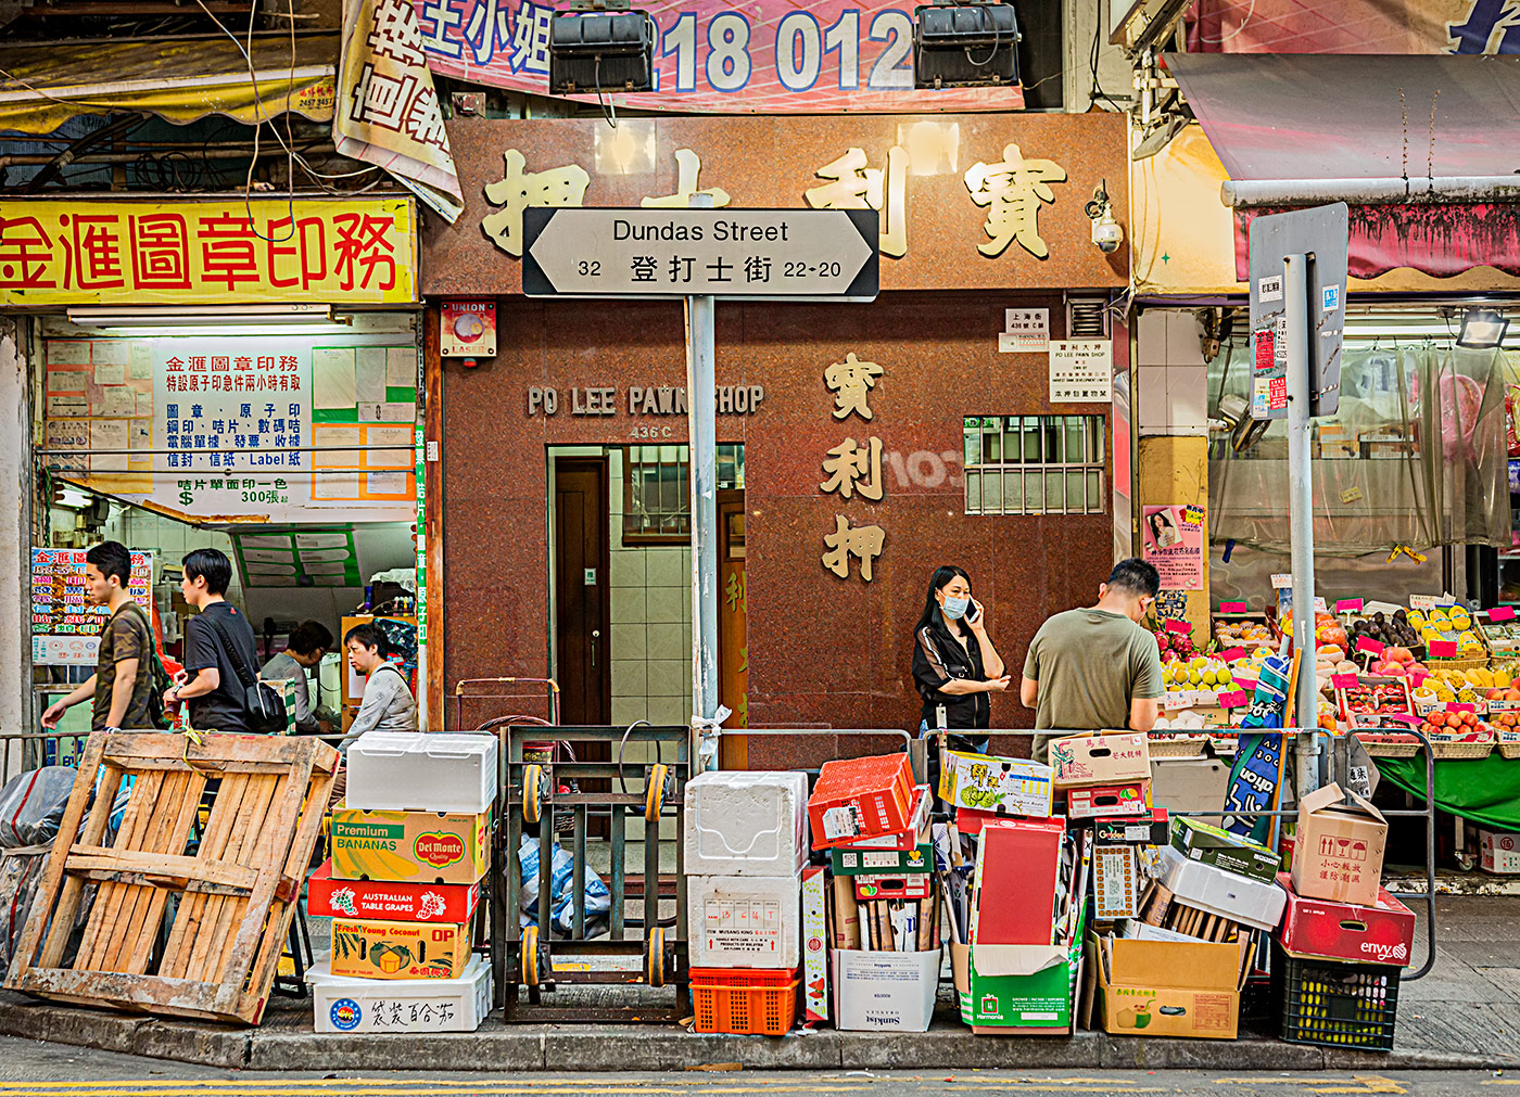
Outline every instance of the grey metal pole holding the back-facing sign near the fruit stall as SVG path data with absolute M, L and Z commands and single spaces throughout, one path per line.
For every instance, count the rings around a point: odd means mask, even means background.
M 1287 518 L 1292 536 L 1294 649 L 1300 652 L 1294 710 L 1300 728 L 1319 723 L 1315 688 L 1315 514 L 1309 463 L 1309 257 L 1283 257 L 1287 319 Z M 1298 795 L 1319 787 L 1319 737 L 1300 735 Z

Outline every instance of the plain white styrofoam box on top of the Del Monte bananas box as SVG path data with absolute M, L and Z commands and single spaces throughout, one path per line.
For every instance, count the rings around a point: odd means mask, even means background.
M 496 735 L 366 731 L 348 748 L 347 804 L 480 814 L 496 801 Z

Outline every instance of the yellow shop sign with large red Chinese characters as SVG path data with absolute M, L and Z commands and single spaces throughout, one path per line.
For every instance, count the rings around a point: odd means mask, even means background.
M 406 304 L 412 201 L 0 202 L 0 304 Z

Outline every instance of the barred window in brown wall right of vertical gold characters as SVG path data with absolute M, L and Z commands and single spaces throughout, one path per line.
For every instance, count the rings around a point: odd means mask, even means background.
M 1102 415 L 970 415 L 967 514 L 1105 514 Z

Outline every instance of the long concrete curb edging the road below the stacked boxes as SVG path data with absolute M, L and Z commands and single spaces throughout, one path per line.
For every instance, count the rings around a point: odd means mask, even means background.
M 248 1071 L 395 1070 L 400 1061 L 448 1064 L 451 1071 L 605 1073 L 673 1071 L 705 1064 L 745 1070 L 1509 1070 L 1520 1056 L 1497 1051 L 1397 1048 L 1388 1053 L 1284 1044 L 1246 1035 L 1237 1041 L 1110 1036 L 971 1036 L 956 1021 L 929 1032 L 856 1033 L 824 1029 L 807 1036 L 702 1035 L 646 1026 L 506 1026 L 479 1032 L 392 1036 L 318 1035 L 278 1021 L 233 1029 L 0 994 L 0 1035 L 173 1059 Z

